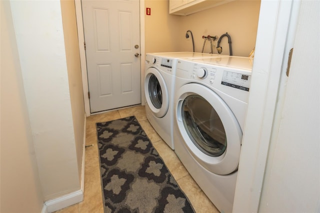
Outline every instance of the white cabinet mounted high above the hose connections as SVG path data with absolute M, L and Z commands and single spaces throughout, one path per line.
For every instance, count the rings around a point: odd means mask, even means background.
M 189 15 L 233 0 L 169 0 L 169 13 Z

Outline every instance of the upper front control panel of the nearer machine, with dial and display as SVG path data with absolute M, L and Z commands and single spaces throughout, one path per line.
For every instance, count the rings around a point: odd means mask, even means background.
M 241 68 L 239 63 L 222 66 L 178 59 L 175 83 L 178 87 L 186 83 L 202 84 L 220 96 L 225 95 L 224 100 L 233 104 L 235 99 L 248 101 L 251 74 L 250 69 Z

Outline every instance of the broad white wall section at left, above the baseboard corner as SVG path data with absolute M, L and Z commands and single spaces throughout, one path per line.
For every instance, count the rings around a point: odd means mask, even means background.
M 44 200 L 80 189 L 60 1 L 10 1 Z

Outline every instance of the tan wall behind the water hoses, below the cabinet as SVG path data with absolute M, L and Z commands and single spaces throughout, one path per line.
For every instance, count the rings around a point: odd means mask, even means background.
M 180 51 L 192 51 L 191 39 L 185 39 L 186 30 L 191 30 L 194 37 L 194 48 L 201 52 L 202 35 L 220 37 L 227 32 L 231 37 L 232 55 L 248 56 L 255 45 L 258 25 L 260 0 L 235 0 L 215 6 L 187 16 L 182 16 L 179 23 L 179 33 L 175 37 Z M 217 40 L 212 41 L 213 53 L 217 54 Z M 227 37 L 220 42 L 221 54 L 229 54 Z M 205 42 L 204 51 L 209 53 L 210 42 Z

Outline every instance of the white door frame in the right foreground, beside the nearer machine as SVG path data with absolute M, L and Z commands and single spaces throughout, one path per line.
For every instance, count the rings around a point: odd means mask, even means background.
M 261 0 L 248 109 L 232 212 L 258 212 L 269 144 L 276 134 L 300 0 Z M 243 196 L 245 194 L 245 196 Z

